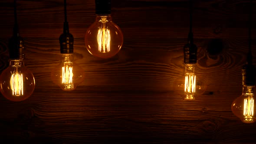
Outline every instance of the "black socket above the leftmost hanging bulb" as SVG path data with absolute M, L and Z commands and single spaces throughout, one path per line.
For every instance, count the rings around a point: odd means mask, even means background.
M 24 41 L 22 37 L 12 36 L 9 39 L 8 47 L 9 47 L 9 56 L 10 59 L 24 59 Z

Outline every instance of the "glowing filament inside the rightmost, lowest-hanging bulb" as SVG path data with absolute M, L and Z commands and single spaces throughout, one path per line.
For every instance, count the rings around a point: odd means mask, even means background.
M 248 97 L 243 100 L 243 115 L 245 118 L 252 118 L 254 108 L 253 97 Z

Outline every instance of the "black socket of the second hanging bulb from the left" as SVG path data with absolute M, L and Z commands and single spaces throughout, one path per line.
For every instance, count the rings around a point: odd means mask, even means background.
M 73 53 L 74 37 L 71 33 L 62 33 L 59 36 L 60 53 Z

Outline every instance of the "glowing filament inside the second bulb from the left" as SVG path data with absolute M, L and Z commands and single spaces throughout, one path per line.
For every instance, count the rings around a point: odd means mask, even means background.
M 73 78 L 73 67 L 69 67 L 69 65 L 64 65 L 62 67 L 62 84 L 71 84 Z

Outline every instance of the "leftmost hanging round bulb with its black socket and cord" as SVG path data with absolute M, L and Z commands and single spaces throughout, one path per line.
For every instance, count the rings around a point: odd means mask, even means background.
M 33 94 L 35 79 L 32 72 L 24 65 L 24 41 L 20 37 L 16 0 L 14 0 L 13 36 L 9 40 L 8 48 L 10 65 L 0 75 L 0 92 L 10 101 L 23 101 Z

